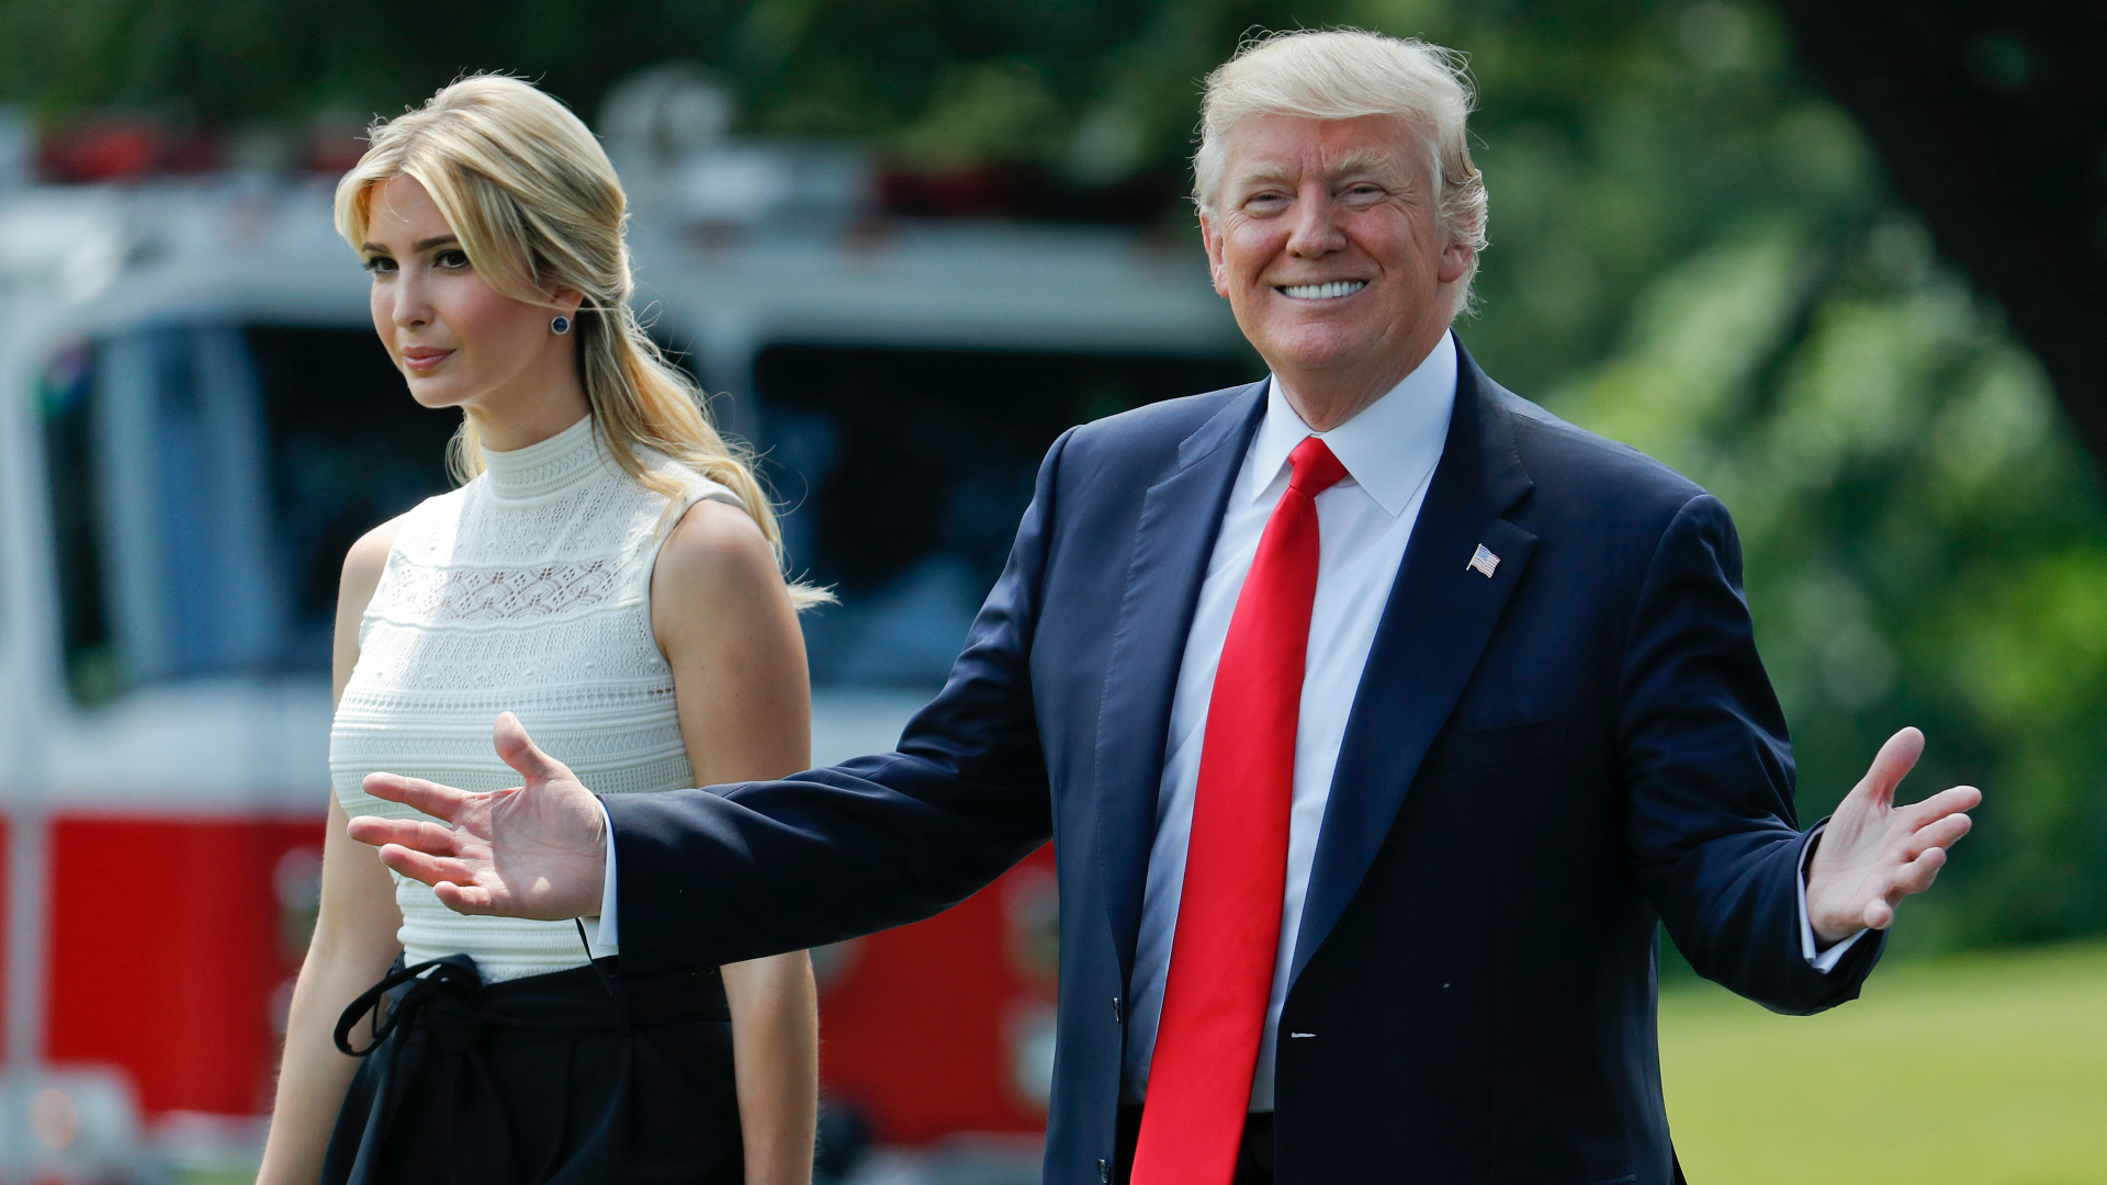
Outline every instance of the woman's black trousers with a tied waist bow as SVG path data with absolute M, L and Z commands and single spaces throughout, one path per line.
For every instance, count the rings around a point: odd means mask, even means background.
M 434 966 L 436 964 L 436 966 Z M 596 968 L 483 985 L 468 955 L 405 968 L 337 1115 L 324 1185 L 744 1179 L 731 1014 L 714 970 L 647 983 Z

